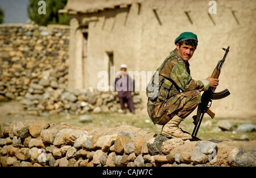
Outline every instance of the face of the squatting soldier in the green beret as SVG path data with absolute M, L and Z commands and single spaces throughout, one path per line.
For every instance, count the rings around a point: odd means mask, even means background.
M 184 61 L 188 61 L 193 56 L 193 53 L 195 52 L 196 48 L 192 47 L 192 45 L 185 45 L 184 43 L 182 45 L 176 44 L 177 51 L 179 53 L 179 56 Z

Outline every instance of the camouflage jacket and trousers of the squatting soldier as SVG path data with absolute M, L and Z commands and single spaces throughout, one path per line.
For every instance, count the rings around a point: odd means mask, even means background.
M 184 63 L 177 49 L 170 52 L 157 71 L 159 93 L 157 97 L 148 97 L 148 115 L 154 124 L 159 125 L 166 124 L 174 115 L 184 119 L 201 102 L 200 92 L 209 88 L 208 81 L 192 79 L 189 63 Z M 147 96 L 150 96 L 150 92 L 147 86 Z

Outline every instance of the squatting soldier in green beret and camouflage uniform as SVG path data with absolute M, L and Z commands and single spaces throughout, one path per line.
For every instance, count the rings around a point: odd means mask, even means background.
M 190 75 L 188 60 L 193 56 L 197 42 L 197 36 L 192 32 L 180 34 L 175 39 L 176 48 L 156 71 L 158 88 L 152 88 L 155 75 L 147 85 L 148 115 L 154 124 L 163 125 L 161 134 L 164 136 L 192 139 L 179 124 L 201 102 L 200 92 L 209 87 L 214 92 L 218 85 L 218 79 L 208 77 L 197 81 Z

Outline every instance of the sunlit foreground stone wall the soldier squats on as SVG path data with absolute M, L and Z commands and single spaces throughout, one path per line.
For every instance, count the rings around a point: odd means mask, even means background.
M 256 152 L 212 141 L 168 139 L 132 126 L 0 125 L 1 166 L 256 166 Z

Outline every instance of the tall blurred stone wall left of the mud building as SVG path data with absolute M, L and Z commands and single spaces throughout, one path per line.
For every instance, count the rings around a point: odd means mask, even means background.
M 69 26 L 0 25 L 0 100 L 67 86 Z M 51 76 L 50 74 L 51 73 Z M 46 81 L 48 80 L 49 84 Z

